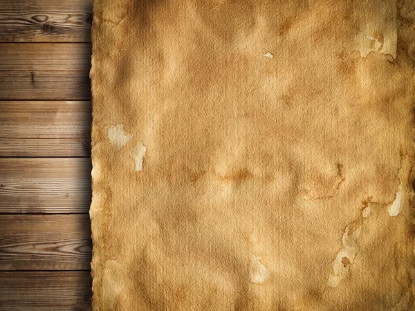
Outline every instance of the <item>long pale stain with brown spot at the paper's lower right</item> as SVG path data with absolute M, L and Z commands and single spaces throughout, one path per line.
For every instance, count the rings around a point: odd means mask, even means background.
M 353 264 L 358 253 L 358 238 L 362 231 L 362 225 L 351 228 L 351 225 L 348 225 L 344 230 L 342 248 L 331 262 L 333 273 L 329 275 L 329 281 L 327 282 L 327 285 L 331 288 L 335 288 L 343 279 L 349 276 L 350 265 Z

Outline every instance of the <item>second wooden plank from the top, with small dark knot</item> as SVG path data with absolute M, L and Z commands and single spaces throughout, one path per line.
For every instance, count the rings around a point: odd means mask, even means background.
M 91 100 L 91 44 L 0 44 L 0 100 Z

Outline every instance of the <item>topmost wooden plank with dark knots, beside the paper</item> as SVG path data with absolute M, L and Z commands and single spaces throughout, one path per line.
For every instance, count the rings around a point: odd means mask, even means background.
M 91 0 L 2 0 L 0 42 L 90 42 Z

